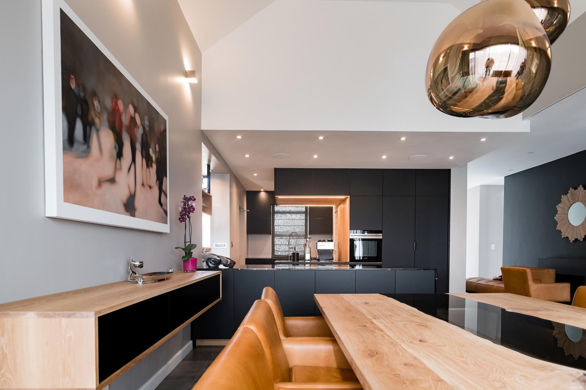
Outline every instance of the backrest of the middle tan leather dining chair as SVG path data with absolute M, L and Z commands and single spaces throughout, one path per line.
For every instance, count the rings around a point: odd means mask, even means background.
M 255 301 L 253 307 L 250 308 L 248 314 L 242 320 L 240 327 L 250 328 L 257 334 L 268 357 L 268 364 L 271 367 L 275 381 L 290 382 L 291 367 L 281 342 L 275 315 L 272 313 L 267 301 L 263 299 Z

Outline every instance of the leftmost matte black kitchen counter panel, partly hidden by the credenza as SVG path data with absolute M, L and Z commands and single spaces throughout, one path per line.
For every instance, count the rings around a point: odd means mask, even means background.
M 222 299 L 193 321 L 193 341 L 227 339 L 234 335 L 234 272 L 222 271 Z

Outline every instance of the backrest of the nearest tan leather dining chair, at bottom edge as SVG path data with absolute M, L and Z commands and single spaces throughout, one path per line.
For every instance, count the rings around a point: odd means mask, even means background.
M 207 368 L 194 390 L 273 390 L 275 381 L 256 333 L 239 329 Z

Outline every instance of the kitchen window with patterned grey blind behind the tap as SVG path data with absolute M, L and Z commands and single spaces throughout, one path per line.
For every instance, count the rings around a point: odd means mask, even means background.
M 305 237 L 307 237 L 307 207 L 273 206 L 272 255 L 288 256 L 291 252 L 299 252 L 302 255 Z

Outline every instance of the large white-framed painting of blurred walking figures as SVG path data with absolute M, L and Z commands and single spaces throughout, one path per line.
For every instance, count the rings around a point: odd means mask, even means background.
M 43 0 L 47 217 L 169 232 L 169 118 L 63 0 Z

